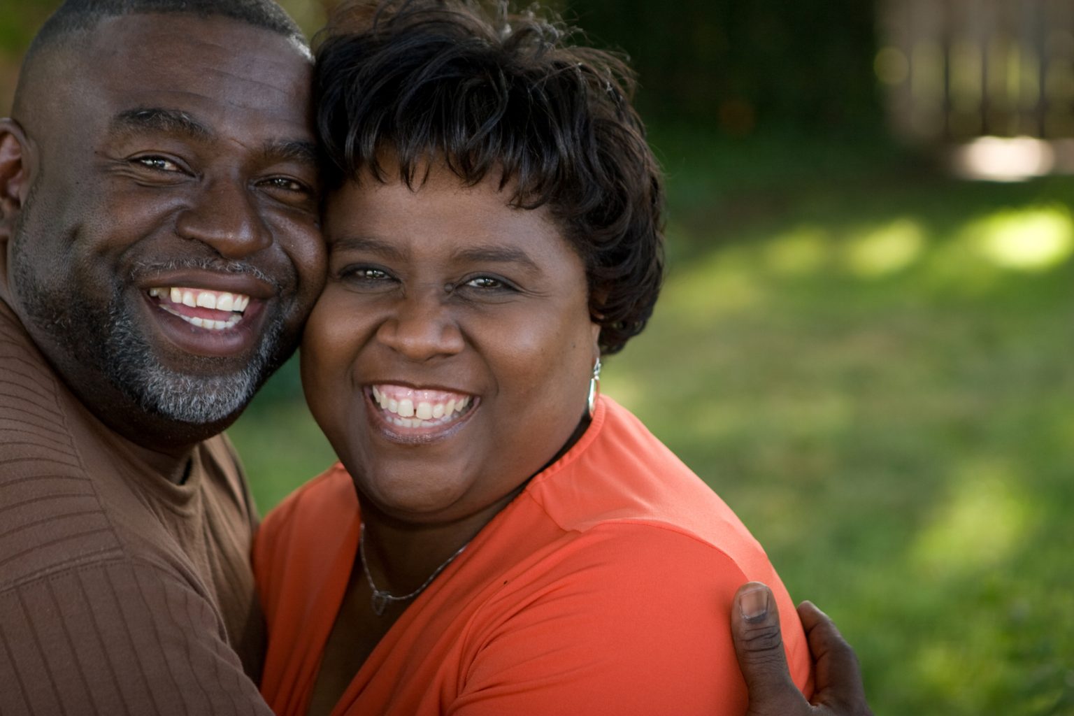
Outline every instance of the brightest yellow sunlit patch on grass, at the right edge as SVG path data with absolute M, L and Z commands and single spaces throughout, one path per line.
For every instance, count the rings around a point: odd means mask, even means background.
M 985 259 L 1015 271 L 1046 271 L 1074 253 L 1074 223 L 1060 206 L 997 211 L 966 235 Z

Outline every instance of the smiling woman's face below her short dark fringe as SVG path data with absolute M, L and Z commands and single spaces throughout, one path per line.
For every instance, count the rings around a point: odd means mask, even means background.
M 491 518 L 584 414 L 599 326 L 582 260 L 508 199 L 439 169 L 329 200 L 303 385 L 363 503 L 392 517 Z

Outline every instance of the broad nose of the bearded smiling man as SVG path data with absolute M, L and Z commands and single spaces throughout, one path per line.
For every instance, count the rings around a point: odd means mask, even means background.
M 183 238 L 212 246 L 226 259 L 242 259 L 272 245 L 268 225 L 253 192 L 237 179 L 217 180 L 201 190 L 176 222 Z

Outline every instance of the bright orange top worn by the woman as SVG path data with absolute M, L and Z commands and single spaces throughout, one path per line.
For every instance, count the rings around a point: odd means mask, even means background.
M 336 465 L 265 520 L 255 572 L 268 619 L 262 693 L 305 714 L 359 537 Z M 795 683 L 809 649 L 765 552 L 624 408 L 538 473 L 400 616 L 334 714 L 743 714 L 729 614 L 772 587 Z

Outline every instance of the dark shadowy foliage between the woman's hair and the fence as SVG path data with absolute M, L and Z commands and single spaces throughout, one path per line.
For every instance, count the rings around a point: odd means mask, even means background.
M 625 50 L 642 115 L 732 136 L 793 126 L 877 127 L 874 2 L 564 0 L 596 41 Z

